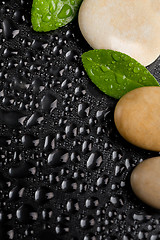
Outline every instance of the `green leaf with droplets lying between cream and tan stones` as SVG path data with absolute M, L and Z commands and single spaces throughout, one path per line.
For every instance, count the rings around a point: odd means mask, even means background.
M 135 88 L 159 86 L 144 66 L 124 53 L 91 50 L 82 55 L 82 62 L 92 82 L 116 99 Z

